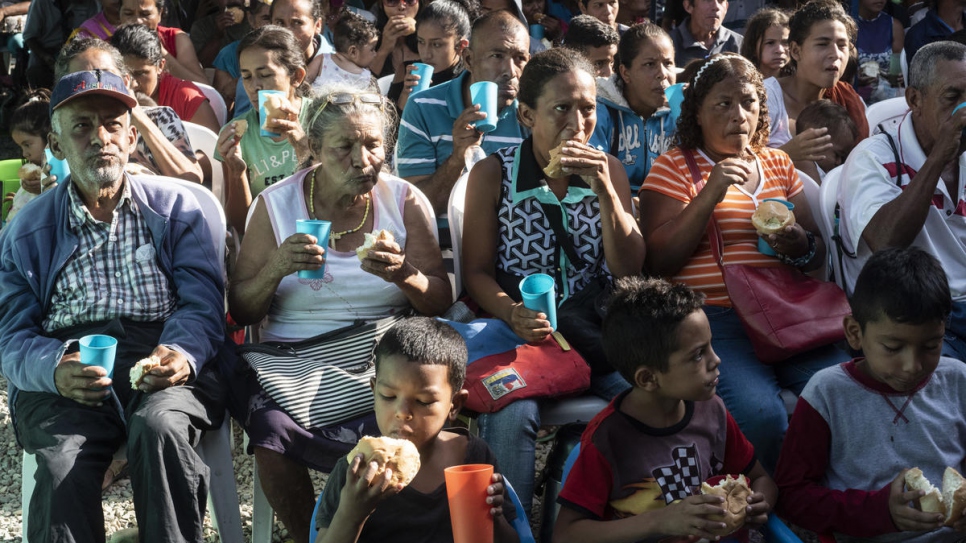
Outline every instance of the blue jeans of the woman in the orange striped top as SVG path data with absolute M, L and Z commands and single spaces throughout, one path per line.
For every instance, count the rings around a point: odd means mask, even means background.
M 711 324 L 711 347 L 721 359 L 718 396 L 755 446 L 758 460 L 771 472 L 788 429 L 788 413 L 779 392 L 787 388 L 801 394 L 812 375 L 849 360 L 849 355 L 829 345 L 766 366 L 755 356 L 734 310 L 705 306 L 704 312 Z

